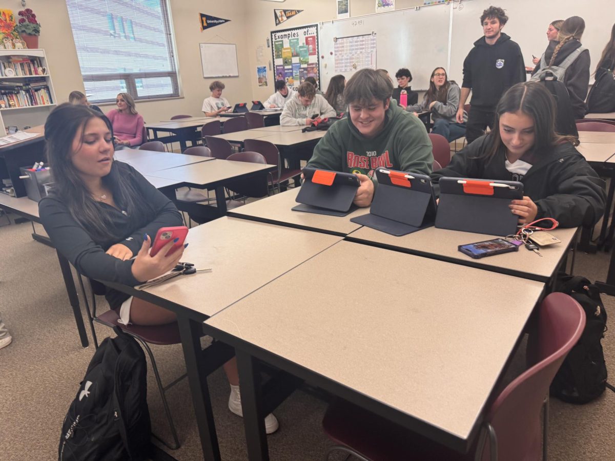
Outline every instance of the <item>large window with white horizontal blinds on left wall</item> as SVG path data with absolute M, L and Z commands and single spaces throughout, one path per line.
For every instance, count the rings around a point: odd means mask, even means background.
M 92 103 L 180 95 L 167 0 L 66 0 Z

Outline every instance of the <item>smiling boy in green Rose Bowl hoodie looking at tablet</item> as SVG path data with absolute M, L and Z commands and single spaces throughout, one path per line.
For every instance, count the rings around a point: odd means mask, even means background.
M 327 130 L 308 162 L 308 167 L 357 175 L 354 203 L 359 207 L 371 204 L 376 167 L 431 173 L 434 156 L 424 125 L 391 100 L 392 90 L 383 73 L 355 73 L 344 89 L 347 116 Z

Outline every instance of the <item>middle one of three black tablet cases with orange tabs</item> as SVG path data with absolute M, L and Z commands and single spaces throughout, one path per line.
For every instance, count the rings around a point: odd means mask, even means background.
M 353 223 L 398 237 L 434 225 L 436 205 L 429 176 L 377 168 L 376 179 L 370 213 L 352 218 Z

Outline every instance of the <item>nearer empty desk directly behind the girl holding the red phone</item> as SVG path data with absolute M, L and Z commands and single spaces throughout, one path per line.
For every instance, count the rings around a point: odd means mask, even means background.
M 174 154 L 175 155 L 175 154 Z M 226 199 L 224 186 L 230 179 L 252 178 L 266 175 L 268 171 L 277 169 L 277 165 L 253 164 L 248 162 L 232 162 L 229 160 L 213 159 L 208 162 L 183 165 L 181 167 L 159 170 L 150 176 L 173 179 L 183 186 L 197 187 L 198 189 L 214 189 L 216 194 L 215 217 L 226 215 Z M 212 209 L 208 205 L 197 204 L 200 210 Z

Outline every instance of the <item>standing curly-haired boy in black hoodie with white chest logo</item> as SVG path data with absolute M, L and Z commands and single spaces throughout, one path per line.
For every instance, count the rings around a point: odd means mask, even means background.
M 512 85 L 525 82 L 521 49 L 502 33 L 507 21 L 506 13 L 499 7 L 490 6 L 483 11 L 480 23 L 485 36 L 474 42 L 474 48 L 463 63 L 457 122 L 463 123 L 464 104 L 472 90 L 472 108 L 466 123 L 468 143 L 482 136 L 486 127 L 493 129 L 494 111 L 499 98 Z

